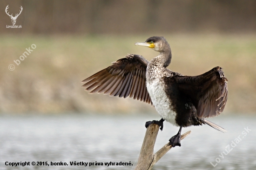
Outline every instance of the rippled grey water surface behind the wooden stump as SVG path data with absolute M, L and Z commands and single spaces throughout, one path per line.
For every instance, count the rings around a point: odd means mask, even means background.
M 157 114 L 0 116 L 0 169 L 132 170 L 145 135 L 144 124 L 153 119 L 160 117 Z M 182 140 L 181 147 L 169 150 L 155 164 L 154 170 L 256 170 L 256 117 L 220 115 L 209 120 L 228 132 L 222 133 L 207 125 L 183 128 L 182 133 L 191 130 L 191 134 Z M 155 151 L 166 144 L 178 129 L 164 122 L 163 131 L 158 133 Z M 5 165 L 6 162 L 25 161 L 30 162 L 30 166 Z M 33 161 L 68 165 L 33 166 Z M 71 166 L 70 162 L 74 161 L 88 165 Z M 89 166 L 95 161 L 103 165 Z M 110 161 L 130 162 L 133 166 L 104 164 Z

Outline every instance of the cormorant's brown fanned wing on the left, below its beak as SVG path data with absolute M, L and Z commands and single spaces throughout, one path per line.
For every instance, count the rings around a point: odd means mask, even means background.
M 126 58 L 113 62 L 111 66 L 86 78 L 83 87 L 90 91 L 119 96 L 120 98 L 134 98 L 151 104 L 146 87 L 146 68 L 148 60 L 140 55 L 129 54 Z

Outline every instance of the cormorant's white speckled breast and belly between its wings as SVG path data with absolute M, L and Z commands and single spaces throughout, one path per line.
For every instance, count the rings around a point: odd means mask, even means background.
M 178 126 L 175 122 L 176 113 L 172 111 L 171 101 L 164 91 L 163 80 L 155 78 L 147 81 L 147 89 L 155 110 L 160 116 L 167 122 Z

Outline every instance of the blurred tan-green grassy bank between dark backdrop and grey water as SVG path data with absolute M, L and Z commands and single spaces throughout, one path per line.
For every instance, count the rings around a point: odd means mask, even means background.
M 132 99 L 88 95 L 81 80 L 123 58 L 141 54 L 150 60 L 157 52 L 135 42 L 150 35 L 1 35 L 1 112 L 148 112 L 154 108 Z M 164 35 L 172 49 L 169 69 L 198 75 L 215 66 L 229 79 L 225 112 L 256 112 L 256 34 L 170 34 Z M 20 65 L 26 48 L 34 49 Z M 9 71 L 8 65 L 15 70 Z

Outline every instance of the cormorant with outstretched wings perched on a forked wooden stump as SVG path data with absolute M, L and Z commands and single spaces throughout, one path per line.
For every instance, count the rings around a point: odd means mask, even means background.
M 228 79 L 217 66 L 199 76 L 184 76 L 166 67 L 170 64 L 171 48 L 164 37 L 150 37 L 135 46 L 147 46 L 160 54 L 151 61 L 141 55 L 128 54 L 109 67 L 86 78 L 83 87 L 90 93 L 130 97 L 154 105 L 162 119 L 155 123 L 162 131 L 163 121 L 180 126 L 178 133 L 169 139 L 173 147 L 181 146 L 182 127 L 208 124 L 218 131 L 225 130 L 206 120 L 218 116 L 228 98 Z

